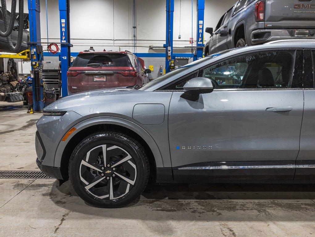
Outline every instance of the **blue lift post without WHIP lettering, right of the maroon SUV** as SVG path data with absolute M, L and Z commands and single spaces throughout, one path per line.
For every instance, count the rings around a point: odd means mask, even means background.
M 173 20 L 174 20 L 174 0 L 166 0 L 166 44 L 165 50 L 165 72 L 170 71 L 169 62 L 173 57 Z

